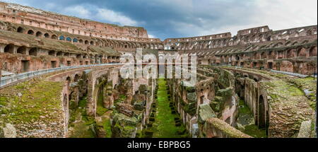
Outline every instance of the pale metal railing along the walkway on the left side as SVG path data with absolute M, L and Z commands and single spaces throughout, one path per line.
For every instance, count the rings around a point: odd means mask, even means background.
M 13 76 L 6 76 L 2 77 L 0 81 L 0 88 L 3 86 L 8 86 L 11 83 L 15 83 L 17 81 L 21 81 L 23 79 L 32 78 L 33 76 L 40 76 L 42 74 L 48 74 L 54 71 L 61 71 L 67 69 L 77 69 L 77 68 L 86 68 L 86 67 L 93 67 L 93 66 L 107 66 L 107 65 L 121 65 L 121 64 L 91 64 L 91 65 L 81 65 L 81 66 L 64 66 L 59 68 L 52 68 L 52 69 L 42 69 L 38 71 L 29 71 L 21 74 L 15 74 Z

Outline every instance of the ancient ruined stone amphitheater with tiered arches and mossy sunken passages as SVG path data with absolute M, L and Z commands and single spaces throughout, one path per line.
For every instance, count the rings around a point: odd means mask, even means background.
M 0 28 L 0 137 L 317 136 L 317 25 L 161 41 L 0 2 Z M 195 86 L 122 78 L 137 49 L 196 54 Z

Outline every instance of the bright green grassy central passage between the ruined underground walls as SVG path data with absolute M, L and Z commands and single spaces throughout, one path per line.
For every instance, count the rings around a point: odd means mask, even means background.
M 153 138 L 187 137 L 187 131 L 182 122 L 176 122 L 175 120 L 179 119 L 179 115 L 176 113 L 172 114 L 166 85 L 165 79 L 158 79 L 157 110 L 155 113 L 155 122 L 153 122 L 153 127 L 151 127 Z

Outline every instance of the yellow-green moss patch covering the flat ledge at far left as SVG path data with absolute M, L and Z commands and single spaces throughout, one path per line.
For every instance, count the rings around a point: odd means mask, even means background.
M 35 122 L 40 119 L 40 116 L 45 116 L 45 119 L 47 119 L 45 122 L 60 119 L 59 115 L 52 115 L 51 113 L 62 110 L 62 86 L 61 82 L 37 80 L 32 83 L 25 81 L 8 88 L 11 96 L 1 100 L 8 101 L 10 107 L 2 110 L 2 113 L 10 113 L 11 115 L 5 115 L 4 119 L 13 124 Z M 16 96 L 17 93 L 21 93 L 22 96 Z M 1 102 L 1 104 L 5 103 Z

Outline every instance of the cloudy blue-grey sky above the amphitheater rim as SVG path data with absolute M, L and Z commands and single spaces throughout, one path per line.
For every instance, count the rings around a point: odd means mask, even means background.
M 1 0 L 0 0 L 1 1 Z M 317 0 L 2 0 L 118 25 L 141 26 L 150 37 L 192 37 L 269 25 L 317 25 Z

